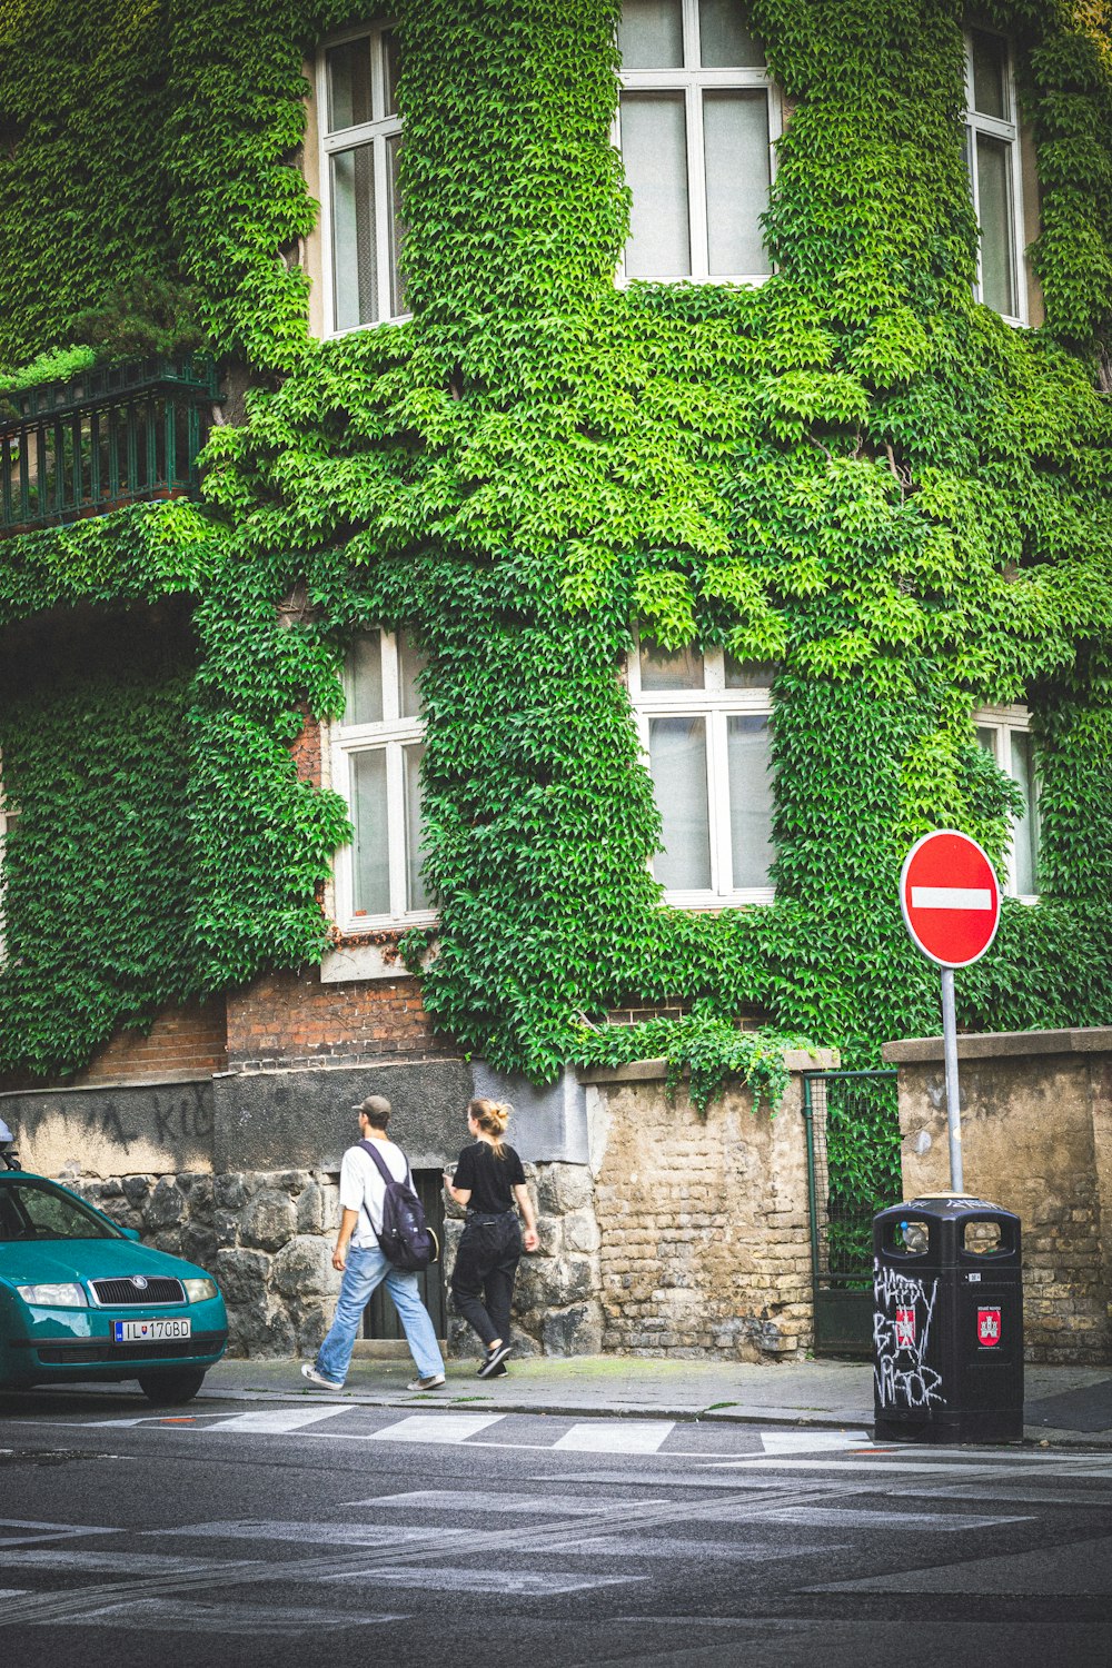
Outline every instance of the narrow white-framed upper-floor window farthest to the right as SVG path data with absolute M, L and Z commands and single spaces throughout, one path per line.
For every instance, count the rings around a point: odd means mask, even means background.
M 980 229 L 974 295 L 1010 324 L 1024 324 L 1024 192 L 1012 45 L 987 28 L 965 30 L 965 165 Z

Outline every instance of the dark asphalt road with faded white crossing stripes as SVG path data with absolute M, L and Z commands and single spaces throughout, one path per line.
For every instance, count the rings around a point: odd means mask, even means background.
M 0 1660 L 1112 1660 L 1112 1454 L 0 1396 Z

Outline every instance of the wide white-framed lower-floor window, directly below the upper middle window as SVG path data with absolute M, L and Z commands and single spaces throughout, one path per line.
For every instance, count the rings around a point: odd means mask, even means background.
M 642 641 L 629 691 L 664 824 L 652 872 L 669 904 L 770 904 L 772 667 Z

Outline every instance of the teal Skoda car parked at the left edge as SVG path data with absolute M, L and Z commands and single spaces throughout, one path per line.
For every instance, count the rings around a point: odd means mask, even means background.
M 178 1406 L 227 1339 L 203 1268 L 140 1244 L 57 1181 L 0 1168 L 2 1389 L 135 1378 Z

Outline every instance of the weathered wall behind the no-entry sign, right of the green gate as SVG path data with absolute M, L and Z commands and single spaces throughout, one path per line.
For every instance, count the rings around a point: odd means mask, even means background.
M 1102 1363 L 1112 1328 L 1112 1029 L 957 1039 L 965 1191 L 1024 1231 L 1029 1361 Z M 950 1186 L 940 1037 L 890 1042 L 904 1196 Z

